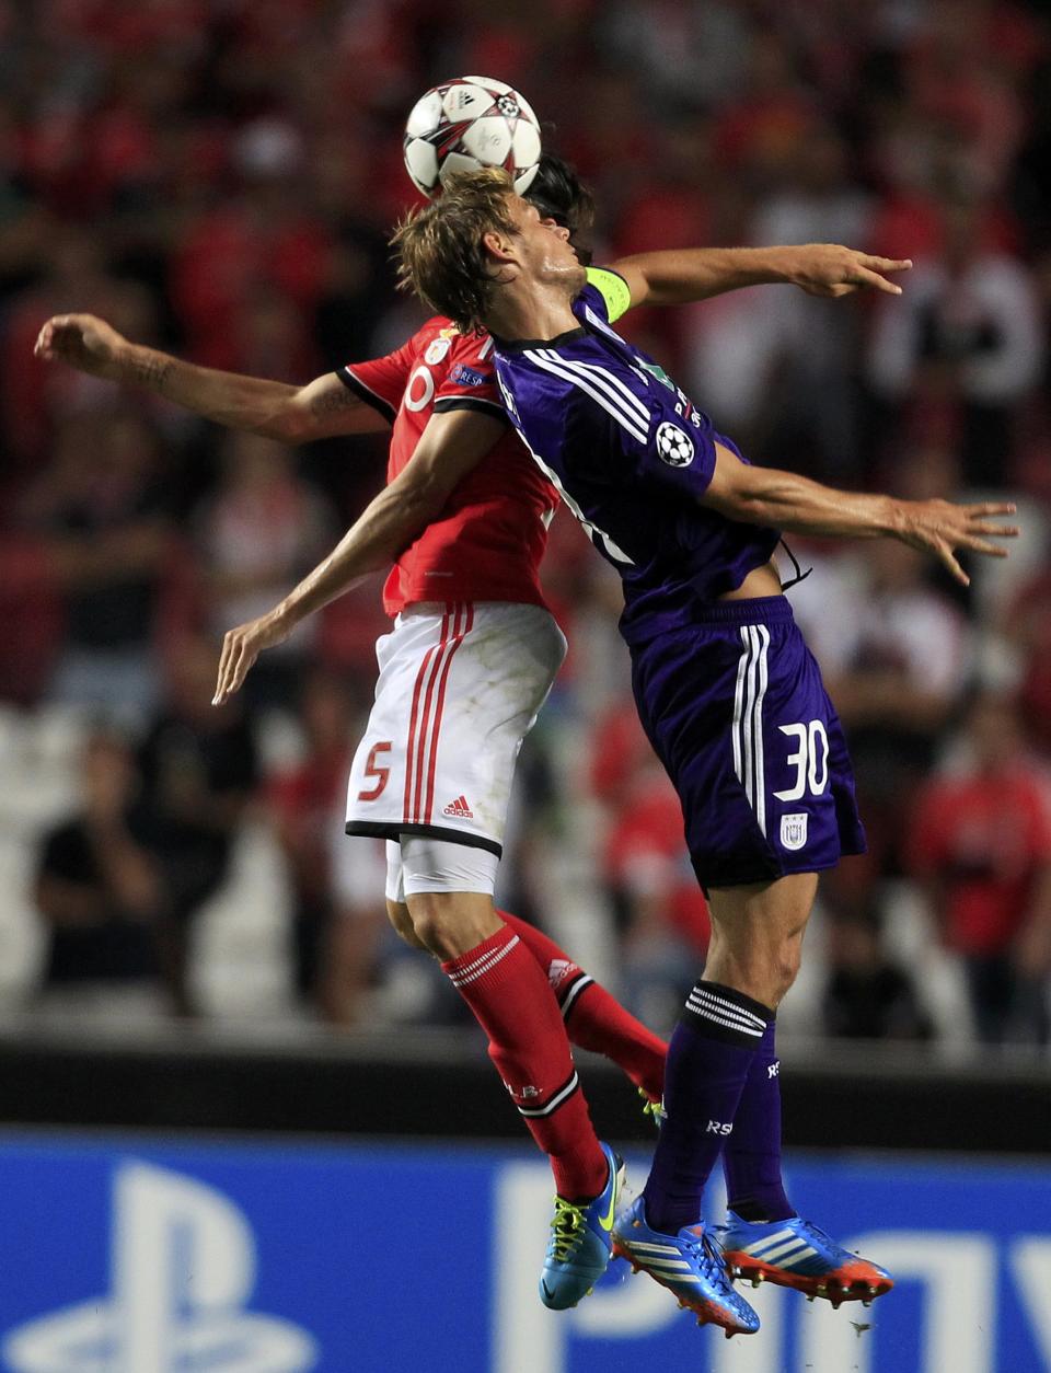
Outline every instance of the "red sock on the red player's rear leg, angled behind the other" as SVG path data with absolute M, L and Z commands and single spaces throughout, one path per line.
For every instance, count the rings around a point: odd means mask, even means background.
M 667 1043 L 590 978 L 569 954 L 547 935 L 506 910 L 505 920 L 541 965 L 563 1009 L 569 1042 L 611 1059 L 642 1087 L 650 1101 L 660 1101 L 664 1092 L 664 1057 Z

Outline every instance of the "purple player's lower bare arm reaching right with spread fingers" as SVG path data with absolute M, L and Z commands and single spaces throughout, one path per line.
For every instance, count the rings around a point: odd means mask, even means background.
M 841 538 L 899 538 L 933 553 L 965 586 L 970 578 L 956 560 L 967 549 L 989 557 L 1006 557 L 1007 549 L 992 542 L 1014 538 L 1015 524 L 1000 524 L 995 516 L 1013 515 L 1007 501 L 958 505 L 954 501 L 903 501 L 893 496 L 864 492 L 837 492 L 794 472 L 742 463 L 722 443 L 715 445 L 715 472 L 701 504 L 729 519 L 748 524 L 771 524 L 794 534 L 823 534 Z

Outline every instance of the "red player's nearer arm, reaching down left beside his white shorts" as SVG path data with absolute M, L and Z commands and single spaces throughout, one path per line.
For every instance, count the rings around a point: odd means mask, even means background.
M 307 615 L 350 590 L 362 577 L 390 566 L 440 514 L 453 489 L 504 434 L 504 420 L 477 411 L 432 415 L 410 461 L 365 507 L 328 557 L 273 610 L 228 630 L 213 706 L 222 706 L 240 689 L 265 648 L 284 643 Z

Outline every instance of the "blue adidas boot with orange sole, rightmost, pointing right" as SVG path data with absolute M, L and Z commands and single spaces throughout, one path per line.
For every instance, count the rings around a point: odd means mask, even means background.
M 729 1223 L 718 1229 L 730 1273 L 753 1287 L 766 1280 L 794 1288 L 811 1302 L 820 1296 L 833 1306 L 870 1306 L 895 1285 L 886 1269 L 851 1254 L 797 1215 L 788 1221 L 742 1221 L 730 1211 Z

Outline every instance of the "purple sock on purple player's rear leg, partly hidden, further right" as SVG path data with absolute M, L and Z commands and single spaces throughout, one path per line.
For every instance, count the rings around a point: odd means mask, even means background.
M 723 1149 L 727 1204 L 742 1221 L 786 1221 L 796 1214 L 781 1178 L 781 1063 L 774 1030 L 771 1015 Z

